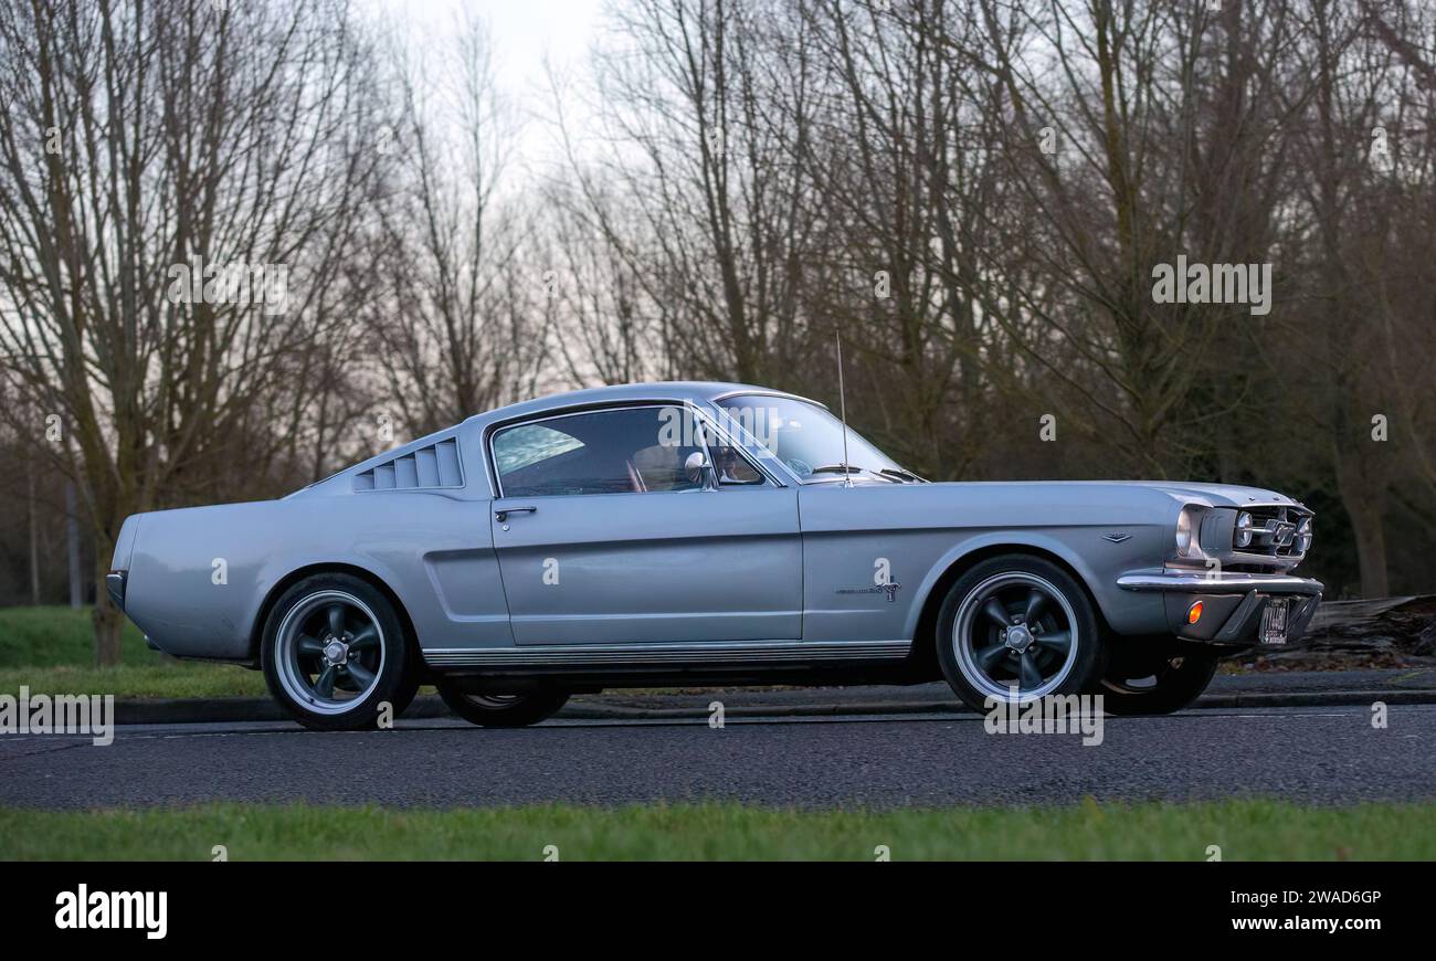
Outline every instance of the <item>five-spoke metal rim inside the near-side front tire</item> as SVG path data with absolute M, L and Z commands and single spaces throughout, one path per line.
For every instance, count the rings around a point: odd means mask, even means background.
M 1071 603 L 1025 572 L 988 577 L 962 600 L 952 651 L 962 677 L 987 697 L 1031 701 L 1067 681 L 1081 638 Z

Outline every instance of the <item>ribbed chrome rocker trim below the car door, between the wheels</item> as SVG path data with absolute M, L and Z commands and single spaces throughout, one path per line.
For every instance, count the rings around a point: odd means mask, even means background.
M 533 648 L 429 648 L 432 667 L 540 667 L 645 664 L 783 664 L 806 661 L 902 659 L 912 641 L 804 644 L 801 641 L 741 641 L 699 644 L 574 644 Z

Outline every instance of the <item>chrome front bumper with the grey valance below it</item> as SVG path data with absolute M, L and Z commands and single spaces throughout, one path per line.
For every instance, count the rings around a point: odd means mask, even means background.
M 1301 639 L 1321 603 L 1320 580 L 1292 575 L 1248 575 L 1190 570 L 1133 570 L 1117 577 L 1124 590 L 1159 592 L 1167 628 L 1185 641 L 1254 646 L 1262 612 L 1287 599 L 1287 644 Z M 1200 600 L 1202 613 L 1189 623 L 1188 612 Z

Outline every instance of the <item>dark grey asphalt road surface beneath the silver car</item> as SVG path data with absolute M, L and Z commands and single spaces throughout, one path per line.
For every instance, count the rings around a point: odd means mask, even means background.
M 458 721 L 314 734 L 286 723 L 0 737 L 0 804 L 213 800 L 399 806 L 740 800 L 890 807 L 1268 796 L 1315 803 L 1436 797 L 1436 705 L 1107 718 L 1078 735 L 988 734 L 976 715 Z

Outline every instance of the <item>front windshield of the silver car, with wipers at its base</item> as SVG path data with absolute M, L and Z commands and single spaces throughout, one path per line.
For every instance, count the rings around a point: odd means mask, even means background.
M 729 396 L 718 407 L 800 478 L 843 477 L 843 422 L 821 407 L 757 394 Z M 847 430 L 847 463 L 854 474 L 869 471 L 886 480 L 916 480 L 852 428 Z

